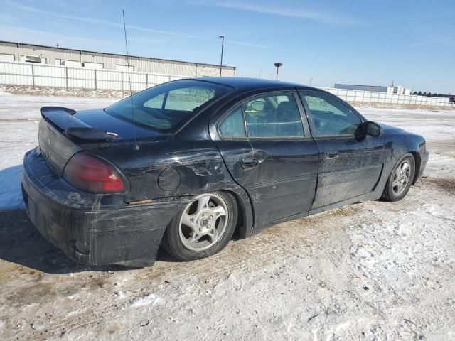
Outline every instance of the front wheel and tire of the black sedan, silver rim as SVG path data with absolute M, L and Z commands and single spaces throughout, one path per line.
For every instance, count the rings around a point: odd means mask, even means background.
M 404 165 L 408 165 L 409 171 L 405 171 Z M 402 200 L 402 198 L 407 195 L 407 192 L 411 188 L 412 180 L 414 179 L 414 173 L 414 156 L 412 156 L 410 153 L 407 153 L 402 156 L 393 167 L 392 172 L 387 179 L 387 183 L 385 183 L 384 192 L 382 192 L 382 199 L 386 201 Z M 406 183 L 404 184 L 403 181 L 405 178 Z

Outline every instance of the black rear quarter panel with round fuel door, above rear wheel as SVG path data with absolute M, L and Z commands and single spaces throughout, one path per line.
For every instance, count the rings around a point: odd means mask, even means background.
M 125 202 L 198 195 L 235 186 L 212 141 L 166 141 L 92 151 L 114 163 L 131 189 Z

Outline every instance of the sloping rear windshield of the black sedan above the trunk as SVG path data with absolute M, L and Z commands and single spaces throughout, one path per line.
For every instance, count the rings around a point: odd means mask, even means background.
M 168 130 L 230 91 L 230 87 L 210 82 L 178 80 L 156 85 L 122 99 L 107 107 L 105 112 L 133 123 L 134 111 L 137 125 Z

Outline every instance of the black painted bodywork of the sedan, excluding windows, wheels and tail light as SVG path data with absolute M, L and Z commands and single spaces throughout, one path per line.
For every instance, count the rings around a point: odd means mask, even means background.
M 168 224 L 196 195 L 230 191 L 239 206 L 240 237 L 245 238 L 277 222 L 378 199 L 404 153 L 416 159 L 414 182 L 424 171 L 428 152 L 423 137 L 402 129 L 380 124 L 377 137 L 313 138 L 311 112 L 297 90 L 323 90 L 240 78 L 199 81 L 221 82 L 235 91 L 174 131 L 138 127 L 139 150 L 133 148 L 132 125 L 102 109 L 52 110 L 41 120 L 40 147 L 24 158 L 22 185 L 31 220 L 50 242 L 83 264 L 147 266 L 154 264 Z M 293 92 L 299 100 L 304 138 L 224 140 L 218 134 L 218 121 L 243 100 L 281 91 Z M 118 136 L 111 141 L 77 139 L 65 134 L 72 126 Z M 66 183 L 61 178 L 65 164 L 79 151 L 105 158 L 122 171 L 127 193 L 95 195 Z

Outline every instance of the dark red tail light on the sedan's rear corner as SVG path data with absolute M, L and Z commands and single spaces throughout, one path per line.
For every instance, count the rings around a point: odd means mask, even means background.
M 90 193 L 119 193 L 126 187 L 124 177 L 112 164 L 86 152 L 70 158 L 63 178 L 75 188 Z

